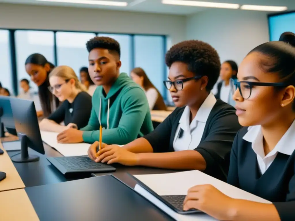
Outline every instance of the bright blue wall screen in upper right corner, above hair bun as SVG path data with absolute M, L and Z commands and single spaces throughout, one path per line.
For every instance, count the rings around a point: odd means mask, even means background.
M 278 41 L 283 32 L 295 33 L 295 12 L 268 17 L 271 41 Z

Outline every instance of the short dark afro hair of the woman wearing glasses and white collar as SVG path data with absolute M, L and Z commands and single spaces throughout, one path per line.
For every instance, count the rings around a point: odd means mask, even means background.
M 206 90 L 212 90 L 219 77 L 221 63 L 217 51 L 210 44 L 198 40 L 179 42 L 165 56 L 169 68 L 176 61 L 187 64 L 188 70 L 195 75 L 207 76 Z

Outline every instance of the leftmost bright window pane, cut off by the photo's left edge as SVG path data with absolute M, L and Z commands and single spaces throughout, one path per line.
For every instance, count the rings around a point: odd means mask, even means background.
M 7 88 L 13 94 L 10 65 L 9 32 L 8 30 L 0 30 L 0 82 L 3 88 Z

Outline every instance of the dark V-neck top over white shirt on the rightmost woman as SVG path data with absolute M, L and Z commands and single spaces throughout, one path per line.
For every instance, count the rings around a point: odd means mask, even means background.
M 273 202 L 282 221 L 295 220 L 295 151 L 291 156 L 278 153 L 261 175 L 252 143 L 243 139 L 247 132 L 242 128 L 235 137 L 227 182 Z

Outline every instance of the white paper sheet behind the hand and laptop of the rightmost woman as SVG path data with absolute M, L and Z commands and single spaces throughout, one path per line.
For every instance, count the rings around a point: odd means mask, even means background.
M 199 170 L 168 174 L 135 175 L 135 177 L 159 195 L 186 195 L 188 189 L 193 186 L 211 184 L 232 198 L 271 203 L 266 199 L 210 177 Z

